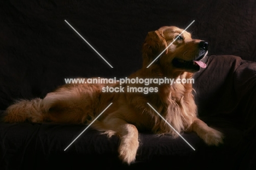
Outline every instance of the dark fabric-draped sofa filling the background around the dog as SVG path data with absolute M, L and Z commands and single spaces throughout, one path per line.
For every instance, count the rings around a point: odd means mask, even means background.
M 0 169 L 256 168 L 256 2 L 245 1 L 2 1 L 0 115 L 18 98 L 44 97 L 65 78 L 123 78 L 142 66 L 148 31 L 187 27 L 209 43 L 207 68 L 195 73 L 199 116 L 222 131 L 207 146 L 195 133 L 181 138 L 139 133 L 136 162 L 118 159 L 117 137 L 86 125 L 0 122 Z M 90 48 L 67 20 L 113 66 Z

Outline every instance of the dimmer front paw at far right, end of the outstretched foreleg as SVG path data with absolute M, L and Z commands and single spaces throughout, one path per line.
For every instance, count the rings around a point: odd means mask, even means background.
M 210 128 L 210 130 L 206 131 L 202 137 L 202 139 L 205 141 L 207 145 L 216 145 L 216 146 L 223 143 L 223 138 L 224 138 L 223 133 L 217 130 L 214 130 L 213 128 Z

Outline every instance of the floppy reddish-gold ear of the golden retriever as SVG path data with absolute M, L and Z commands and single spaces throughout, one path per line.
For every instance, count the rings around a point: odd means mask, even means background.
M 155 58 L 167 48 L 167 43 L 159 31 L 148 32 L 145 42 L 142 47 L 143 67 L 155 60 Z M 167 50 L 165 54 L 167 54 Z

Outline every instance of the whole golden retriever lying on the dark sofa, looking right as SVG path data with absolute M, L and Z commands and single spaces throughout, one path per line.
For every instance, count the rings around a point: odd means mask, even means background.
M 182 31 L 178 27 L 165 26 L 148 32 L 142 48 L 142 68 L 129 78 L 191 79 L 200 67 L 206 67 L 200 60 L 206 55 L 208 43 L 192 39 L 187 31 L 181 34 Z M 154 61 L 162 51 L 162 55 Z M 102 92 L 106 86 L 120 87 L 120 84 L 66 84 L 43 99 L 19 100 L 7 108 L 4 121 L 85 124 L 92 122 L 113 103 L 91 126 L 109 137 L 114 134 L 120 137 L 119 157 L 127 164 L 135 161 L 139 146 L 138 130 L 172 134 L 174 137 L 178 136 L 177 132 L 194 131 L 208 145 L 223 142 L 221 132 L 197 118 L 191 83 L 126 83 L 123 84 L 124 92 Z M 155 91 L 128 92 L 129 87 L 153 87 Z

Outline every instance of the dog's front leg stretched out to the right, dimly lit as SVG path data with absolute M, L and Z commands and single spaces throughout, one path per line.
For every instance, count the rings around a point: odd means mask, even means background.
M 200 119 L 194 120 L 190 130 L 196 132 L 208 145 L 218 146 L 220 143 L 223 143 L 223 134 L 207 126 L 207 124 Z

